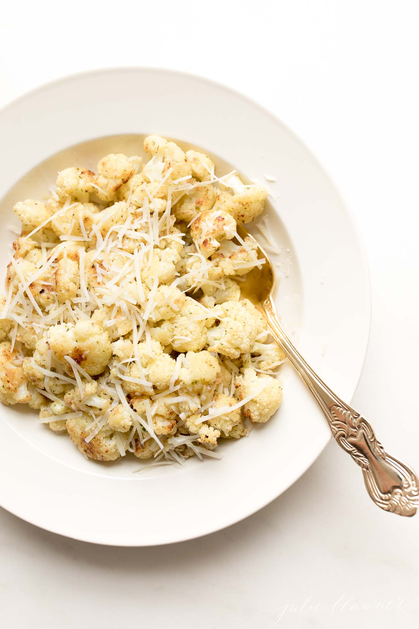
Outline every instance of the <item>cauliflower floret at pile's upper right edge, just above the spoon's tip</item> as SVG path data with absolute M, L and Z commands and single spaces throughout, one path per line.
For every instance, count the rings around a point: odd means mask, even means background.
M 244 187 L 238 175 L 231 175 L 225 180 L 232 193 L 221 191 L 217 196 L 214 208 L 228 212 L 237 223 L 251 223 L 263 212 L 268 192 L 261 186 Z

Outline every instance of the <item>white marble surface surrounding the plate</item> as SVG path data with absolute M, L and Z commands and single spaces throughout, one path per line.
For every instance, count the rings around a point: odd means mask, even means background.
M 354 212 L 371 271 L 371 342 L 353 405 L 416 470 L 417 8 L 124 0 L 7 3 L 0 16 L 0 105 L 80 70 L 170 67 L 254 97 L 305 140 Z M 164 85 L 161 97 L 170 106 Z M 256 515 L 177 545 L 99 547 L 0 510 L 1 624 L 410 628 L 419 613 L 418 525 L 417 515 L 374 507 L 335 443 Z

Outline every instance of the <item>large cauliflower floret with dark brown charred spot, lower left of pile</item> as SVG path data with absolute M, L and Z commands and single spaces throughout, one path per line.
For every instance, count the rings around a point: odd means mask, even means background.
M 100 323 L 80 320 L 75 324 L 53 325 L 46 337 L 54 357 L 65 365 L 68 373 L 72 373 L 72 367 L 65 360 L 67 355 L 90 376 L 101 374 L 111 359 L 109 334 Z

